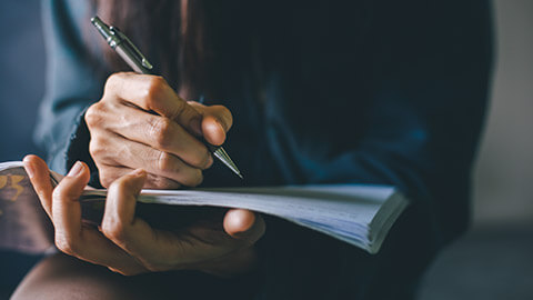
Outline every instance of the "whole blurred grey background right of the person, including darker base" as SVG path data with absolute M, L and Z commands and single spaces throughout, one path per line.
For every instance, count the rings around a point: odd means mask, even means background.
M 428 270 L 420 300 L 533 299 L 533 1 L 493 2 L 497 60 L 474 224 Z

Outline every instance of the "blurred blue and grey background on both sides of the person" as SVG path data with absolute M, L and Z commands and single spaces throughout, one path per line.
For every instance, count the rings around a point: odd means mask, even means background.
M 44 90 L 39 3 L 0 2 L 0 161 L 39 153 L 31 142 Z M 495 73 L 473 224 L 428 271 L 421 300 L 533 299 L 533 1 L 493 8 Z M 0 251 L 0 299 L 37 259 Z

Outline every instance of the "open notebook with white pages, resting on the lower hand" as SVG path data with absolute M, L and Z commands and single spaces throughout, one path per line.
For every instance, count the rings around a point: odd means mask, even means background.
M 50 173 L 52 182 L 62 178 Z M 105 194 L 105 190 L 86 190 L 80 199 L 82 210 L 101 213 Z M 18 201 L 38 203 L 22 162 L 0 163 L 0 246 L 6 243 L 1 241 L 6 236 L 12 236 L 2 231 L 7 230 L 4 223 L 9 224 L 10 206 Z M 409 203 L 393 187 L 359 184 L 143 190 L 138 201 L 154 206 L 249 209 L 320 231 L 370 253 L 380 250 Z

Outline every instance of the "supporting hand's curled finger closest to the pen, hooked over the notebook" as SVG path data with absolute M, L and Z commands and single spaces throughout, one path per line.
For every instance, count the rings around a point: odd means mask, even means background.
M 153 271 L 185 269 L 208 259 L 223 257 L 238 248 L 232 238 L 220 230 L 197 228 L 178 237 L 152 229 L 135 218 L 137 196 L 143 184 L 142 174 L 133 172 L 111 184 L 102 221 L 102 232 L 130 256 Z M 195 238 L 201 237 L 201 238 Z

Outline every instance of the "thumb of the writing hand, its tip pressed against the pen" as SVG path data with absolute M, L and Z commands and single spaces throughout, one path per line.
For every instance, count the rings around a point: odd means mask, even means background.
M 198 102 L 189 101 L 190 106 L 202 114 L 202 134 L 211 144 L 221 146 L 225 141 L 225 133 L 233 124 L 230 110 L 223 106 L 205 107 Z

